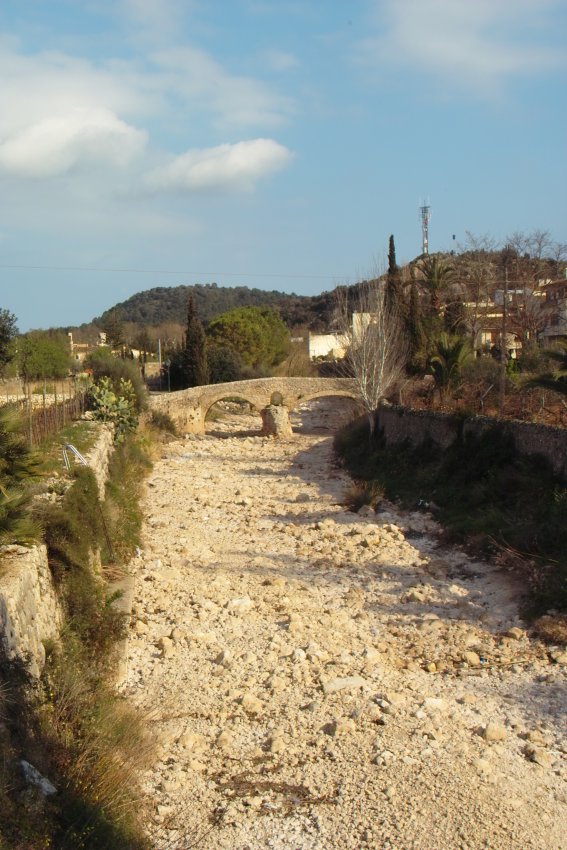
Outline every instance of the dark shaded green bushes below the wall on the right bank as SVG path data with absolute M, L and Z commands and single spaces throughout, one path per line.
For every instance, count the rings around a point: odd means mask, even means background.
M 515 554 L 531 589 L 530 611 L 567 610 L 567 490 L 549 464 L 522 457 L 499 424 L 449 449 L 430 442 L 387 447 L 365 418 L 343 428 L 335 451 L 351 475 L 407 507 L 433 502 L 447 539 L 484 556 Z M 367 485 L 366 485 L 367 486 Z

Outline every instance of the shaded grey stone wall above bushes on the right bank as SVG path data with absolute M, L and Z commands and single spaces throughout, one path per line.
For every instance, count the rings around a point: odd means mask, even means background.
M 448 448 L 460 433 L 480 436 L 487 428 L 502 428 L 510 434 L 519 454 L 539 455 L 551 464 L 554 472 L 567 481 L 567 430 L 532 422 L 472 416 L 463 419 L 429 410 L 409 410 L 399 406 L 383 406 L 377 411 L 377 427 L 390 445 L 408 440 L 419 445 L 431 440 L 443 449 Z

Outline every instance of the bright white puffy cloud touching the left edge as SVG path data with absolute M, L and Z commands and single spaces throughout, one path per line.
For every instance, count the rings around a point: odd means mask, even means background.
M 145 143 L 145 133 L 109 110 L 77 108 L 1 140 L 0 170 L 20 177 L 54 177 L 80 164 L 124 167 Z

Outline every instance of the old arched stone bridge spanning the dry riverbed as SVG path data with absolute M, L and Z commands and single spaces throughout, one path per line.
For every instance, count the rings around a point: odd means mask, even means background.
M 168 413 L 181 431 L 202 434 L 207 411 L 223 399 L 247 401 L 262 413 L 270 405 L 283 405 L 291 412 L 298 405 L 323 396 L 356 399 L 354 381 L 349 378 L 253 378 L 160 393 L 151 396 L 150 407 Z

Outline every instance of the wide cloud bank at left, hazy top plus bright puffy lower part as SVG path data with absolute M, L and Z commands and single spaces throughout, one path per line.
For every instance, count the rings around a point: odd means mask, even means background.
M 0 79 L 0 164 L 22 175 L 63 173 L 83 161 L 124 165 L 144 144 L 136 127 L 167 126 L 178 139 L 193 128 L 272 128 L 293 110 L 261 81 L 231 75 L 191 47 L 143 64 L 95 64 L 61 52 L 27 55 L 0 37 Z

